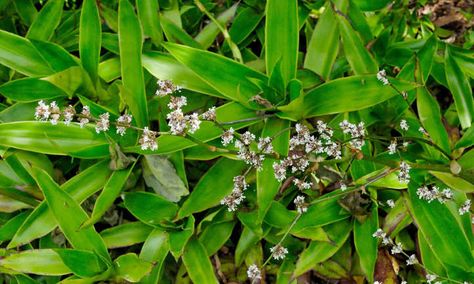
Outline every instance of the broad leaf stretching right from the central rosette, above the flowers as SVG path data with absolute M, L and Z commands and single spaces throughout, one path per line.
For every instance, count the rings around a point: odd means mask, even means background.
M 414 83 L 390 79 L 401 91 L 416 87 Z M 390 86 L 383 86 L 375 75 L 351 76 L 322 84 L 290 104 L 279 107 L 281 117 L 298 120 L 313 116 L 355 111 L 379 104 L 398 95 Z

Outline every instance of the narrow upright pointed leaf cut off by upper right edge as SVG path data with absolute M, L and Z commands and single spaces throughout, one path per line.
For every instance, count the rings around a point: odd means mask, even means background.
M 463 129 L 471 126 L 474 115 L 474 100 L 469 80 L 451 55 L 452 51 L 446 46 L 445 70 L 449 90 L 454 98 L 459 121 Z

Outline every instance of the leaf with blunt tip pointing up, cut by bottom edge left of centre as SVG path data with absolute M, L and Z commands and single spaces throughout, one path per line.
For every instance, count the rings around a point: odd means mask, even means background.
M 191 239 L 183 254 L 183 263 L 193 283 L 219 283 L 206 249 L 196 239 Z

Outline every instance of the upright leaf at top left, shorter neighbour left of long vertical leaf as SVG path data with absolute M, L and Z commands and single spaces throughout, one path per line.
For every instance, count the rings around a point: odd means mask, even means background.
M 98 80 L 102 27 L 96 1 L 85 0 L 79 24 L 79 54 L 84 69 L 96 84 Z

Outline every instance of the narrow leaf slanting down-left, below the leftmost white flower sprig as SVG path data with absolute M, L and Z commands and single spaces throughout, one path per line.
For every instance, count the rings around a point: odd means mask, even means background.
M 100 218 L 102 218 L 105 212 L 109 210 L 115 199 L 120 195 L 120 192 L 127 182 L 134 166 L 135 163 L 133 163 L 128 169 L 114 171 L 112 173 L 105 184 L 104 189 L 102 189 L 99 197 L 97 197 L 90 219 L 82 225 L 83 228 L 95 224 L 100 220 Z

